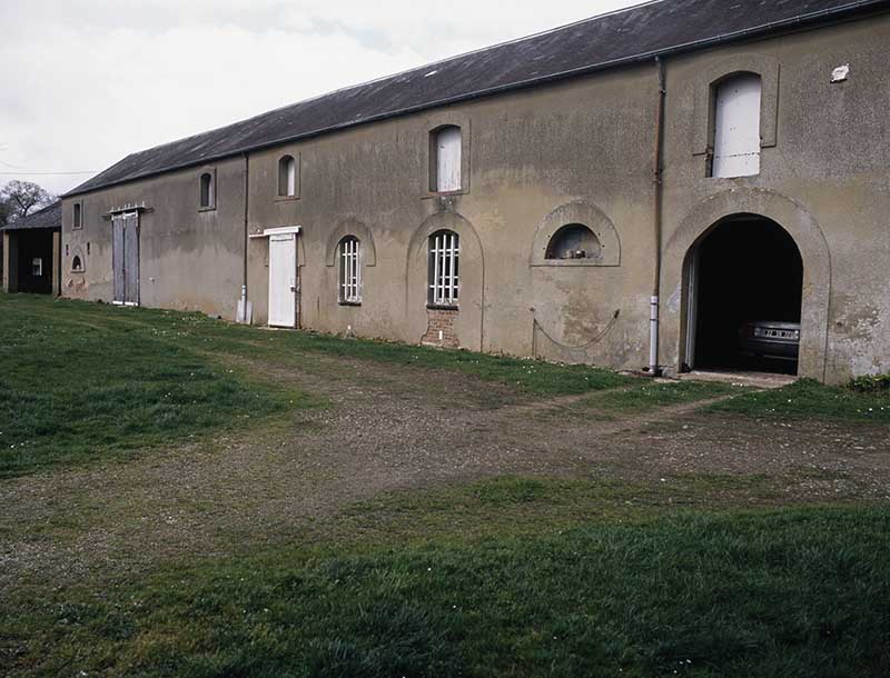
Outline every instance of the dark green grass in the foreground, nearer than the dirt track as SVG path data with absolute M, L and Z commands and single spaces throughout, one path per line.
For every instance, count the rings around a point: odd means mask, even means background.
M 798 509 L 283 546 L 31 597 L 0 650 L 21 676 L 886 676 L 888 530 Z

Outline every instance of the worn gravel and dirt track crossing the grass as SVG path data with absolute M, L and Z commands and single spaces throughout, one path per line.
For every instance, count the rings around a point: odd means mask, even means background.
M 772 475 L 788 501 L 888 498 L 881 430 L 730 421 L 695 413 L 701 403 L 604 419 L 586 397 L 528 402 L 455 372 L 317 355 L 296 370 L 249 368 L 329 407 L 0 483 L 0 595 L 26 577 L 113 576 L 294 539 L 382 491 L 495 475 Z

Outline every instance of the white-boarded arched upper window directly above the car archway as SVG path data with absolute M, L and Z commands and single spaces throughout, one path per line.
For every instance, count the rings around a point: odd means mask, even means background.
M 760 173 L 761 78 L 738 73 L 714 87 L 712 177 Z

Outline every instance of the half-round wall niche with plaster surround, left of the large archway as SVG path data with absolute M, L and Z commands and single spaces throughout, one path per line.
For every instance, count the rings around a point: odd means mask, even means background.
M 586 227 L 597 243 L 582 258 L 553 256 L 553 246 L 566 229 Z M 581 229 L 577 229 L 581 231 Z M 557 207 L 538 225 L 532 243 L 530 266 L 621 266 L 621 240 L 612 220 L 596 206 L 578 200 Z

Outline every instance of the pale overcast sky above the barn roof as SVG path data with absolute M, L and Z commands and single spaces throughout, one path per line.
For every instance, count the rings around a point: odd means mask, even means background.
M 0 0 L 0 185 L 639 2 Z

